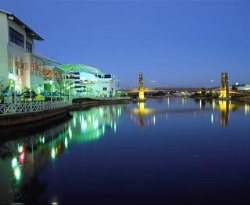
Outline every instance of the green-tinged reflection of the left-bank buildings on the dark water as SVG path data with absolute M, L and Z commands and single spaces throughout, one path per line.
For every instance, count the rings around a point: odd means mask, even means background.
M 37 180 L 49 161 L 56 160 L 70 143 L 99 139 L 116 131 L 117 118 L 125 105 L 99 106 L 73 112 L 73 119 L 42 132 L 0 144 L 0 204 L 33 204 L 46 189 Z

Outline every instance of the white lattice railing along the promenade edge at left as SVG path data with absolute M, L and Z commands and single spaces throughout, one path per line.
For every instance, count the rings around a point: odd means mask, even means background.
M 0 114 L 15 114 L 26 112 L 37 112 L 44 110 L 53 110 L 57 108 L 70 106 L 70 101 L 52 101 L 52 102 L 28 102 L 28 103 L 7 103 L 0 104 Z

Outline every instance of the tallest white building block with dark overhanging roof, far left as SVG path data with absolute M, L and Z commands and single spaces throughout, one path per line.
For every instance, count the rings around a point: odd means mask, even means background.
M 0 10 L 0 30 L 1 90 L 21 92 L 22 88 L 30 86 L 29 67 L 33 65 L 38 75 L 42 72 L 41 62 L 31 56 L 34 40 L 43 41 L 43 38 L 15 15 L 3 10 Z

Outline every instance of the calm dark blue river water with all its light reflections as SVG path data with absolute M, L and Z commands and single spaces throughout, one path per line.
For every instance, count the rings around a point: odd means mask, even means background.
M 0 144 L 0 204 L 250 204 L 250 107 L 93 107 Z

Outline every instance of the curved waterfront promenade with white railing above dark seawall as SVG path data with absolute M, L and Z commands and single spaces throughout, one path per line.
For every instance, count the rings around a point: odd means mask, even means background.
M 0 104 L 0 128 L 33 124 L 34 122 L 40 122 L 40 124 L 50 123 L 66 118 L 70 115 L 70 111 L 84 109 L 89 106 L 129 102 L 130 98 L 128 97 L 113 97 Z

